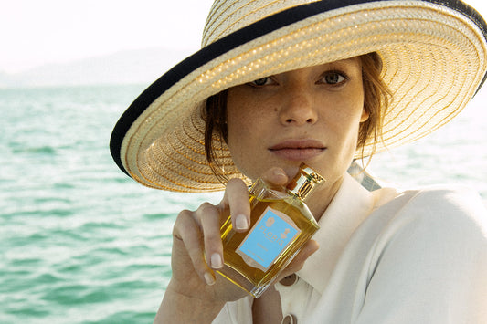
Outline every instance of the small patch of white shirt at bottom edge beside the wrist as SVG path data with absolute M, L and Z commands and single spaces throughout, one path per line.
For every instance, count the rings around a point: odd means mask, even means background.
M 213 324 L 252 324 L 252 298 L 230 301 L 221 309 Z

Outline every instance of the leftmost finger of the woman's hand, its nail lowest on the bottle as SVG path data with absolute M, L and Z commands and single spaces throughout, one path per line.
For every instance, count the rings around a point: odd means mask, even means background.
M 208 285 L 213 284 L 215 282 L 215 277 L 206 265 L 202 244 L 203 235 L 193 212 L 182 211 L 178 215 L 173 235 L 175 239 L 183 242 L 185 251 L 189 256 L 191 264 L 198 277 L 201 277 L 201 279 Z

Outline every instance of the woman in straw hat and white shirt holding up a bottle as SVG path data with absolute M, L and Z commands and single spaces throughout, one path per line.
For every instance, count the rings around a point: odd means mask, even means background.
M 203 48 L 146 89 L 111 138 L 115 162 L 144 185 L 225 190 L 178 215 L 154 322 L 487 322 L 478 195 L 370 192 L 346 172 L 466 105 L 485 78 L 486 30 L 458 1 L 217 0 Z M 321 228 L 250 298 L 215 272 L 223 214 L 249 231 L 248 184 L 286 185 L 302 162 L 326 179 L 307 201 Z

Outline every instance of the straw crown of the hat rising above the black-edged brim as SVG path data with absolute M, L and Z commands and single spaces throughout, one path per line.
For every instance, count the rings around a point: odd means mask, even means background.
M 201 47 L 267 16 L 318 0 L 215 0 L 206 18 Z

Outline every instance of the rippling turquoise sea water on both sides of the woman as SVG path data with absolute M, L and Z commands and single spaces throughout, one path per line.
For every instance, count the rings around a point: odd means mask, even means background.
M 154 319 L 175 214 L 219 194 L 147 189 L 111 161 L 111 128 L 142 89 L 0 89 L 0 323 Z M 371 170 L 407 185 L 463 183 L 487 199 L 482 101 Z

